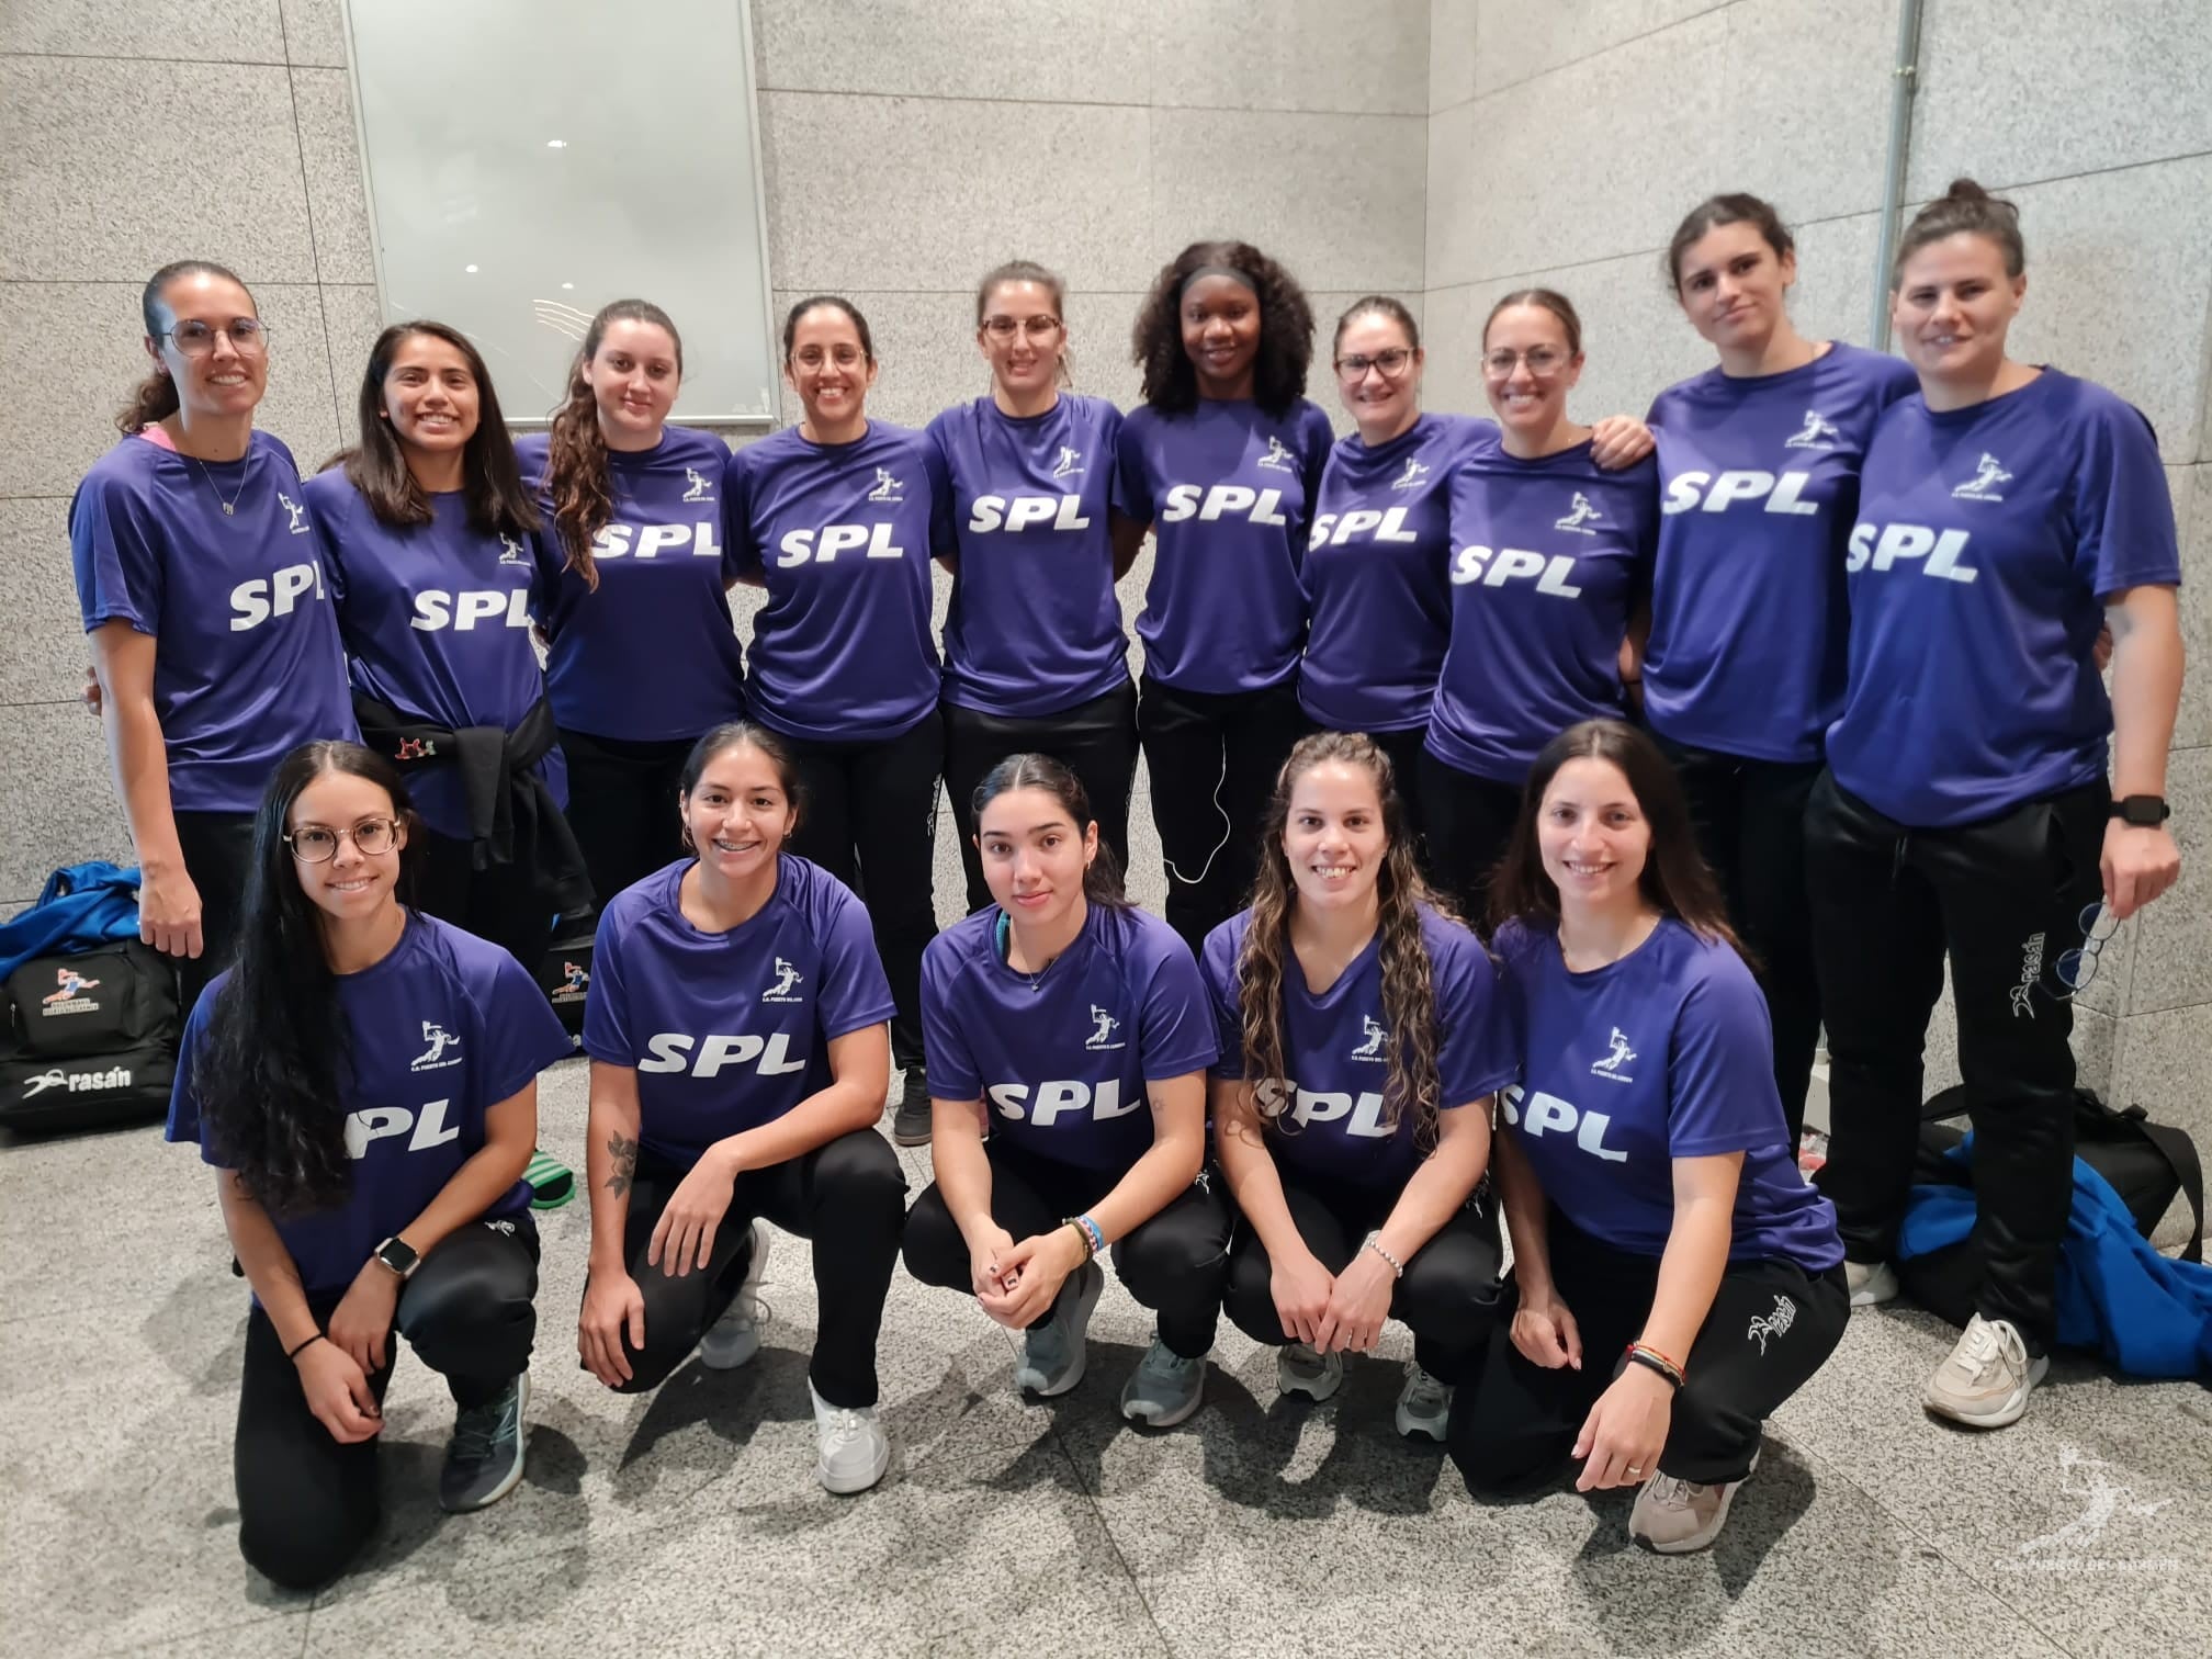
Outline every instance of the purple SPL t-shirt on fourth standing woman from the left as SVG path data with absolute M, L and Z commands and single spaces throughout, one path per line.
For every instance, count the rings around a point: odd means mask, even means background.
M 874 743 L 938 712 L 929 560 L 945 535 L 938 447 L 869 420 L 849 445 L 785 427 L 730 456 L 752 617 L 752 712 L 814 743 Z

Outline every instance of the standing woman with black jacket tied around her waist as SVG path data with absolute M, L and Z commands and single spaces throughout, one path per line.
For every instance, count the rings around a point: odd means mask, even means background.
M 394 323 L 361 378 L 361 445 L 307 480 L 363 739 L 409 781 L 416 902 L 538 971 L 591 909 L 568 768 L 531 644 L 557 580 L 484 358 Z

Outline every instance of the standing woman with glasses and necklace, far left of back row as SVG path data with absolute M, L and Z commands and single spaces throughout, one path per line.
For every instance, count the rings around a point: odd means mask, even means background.
M 69 502 L 69 549 L 144 872 L 139 938 L 179 958 L 190 1009 L 237 940 L 270 768 L 354 737 L 354 710 L 299 467 L 254 429 L 270 372 L 254 296 L 179 259 L 139 312 L 153 372 Z

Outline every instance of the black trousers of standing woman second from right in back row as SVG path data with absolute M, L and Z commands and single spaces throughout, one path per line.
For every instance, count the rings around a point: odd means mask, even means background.
M 1721 880 L 1728 914 L 1759 960 L 1759 987 L 1774 1022 L 1774 1086 L 1796 1155 L 1812 1055 L 1820 1046 L 1820 980 L 1812 964 L 1812 896 L 1805 889 L 1805 801 L 1820 763 L 1752 761 L 1663 737 L 1659 748 L 1690 799 L 1697 845 Z

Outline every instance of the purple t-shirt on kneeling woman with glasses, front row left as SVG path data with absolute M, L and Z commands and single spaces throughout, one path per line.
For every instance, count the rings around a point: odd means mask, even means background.
M 192 1066 L 230 980 L 230 971 L 215 975 L 184 1024 L 166 1130 L 166 1139 L 197 1141 L 217 1168 L 232 1164 L 219 1137 L 201 1130 Z M 418 911 L 383 962 L 336 984 L 354 1075 L 332 1110 L 345 1117 L 352 1192 L 336 1210 L 272 1217 L 310 1301 L 345 1294 L 369 1252 L 484 1150 L 484 1113 L 568 1057 L 568 1033 L 515 958 Z M 529 1208 L 531 1188 L 515 1181 L 484 1219 Z

